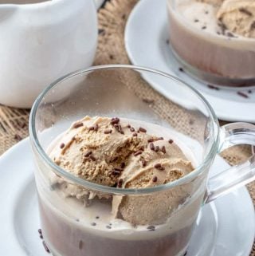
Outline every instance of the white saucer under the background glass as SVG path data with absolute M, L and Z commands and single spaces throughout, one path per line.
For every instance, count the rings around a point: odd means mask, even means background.
M 134 65 L 147 66 L 170 73 L 197 89 L 214 108 L 218 118 L 229 121 L 255 122 L 255 87 L 249 89 L 210 89 L 206 84 L 179 71 L 180 65 L 173 57 L 168 41 L 166 0 L 139 1 L 132 10 L 125 29 L 125 45 L 128 56 Z M 180 42 L 184 43 L 184 42 Z M 188 42 L 187 42 L 188 47 Z M 171 100 L 180 102 L 178 87 L 171 87 L 155 77 L 144 77 L 150 85 Z M 245 93 L 244 98 L 237 92 Z M 176 93 L 176 94 L 175 94 Z

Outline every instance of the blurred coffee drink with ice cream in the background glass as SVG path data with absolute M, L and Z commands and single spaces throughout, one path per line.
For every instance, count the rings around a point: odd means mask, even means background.
M 253 0 L 168 0 L 170 41 L 190 73 L 218 85 L 255 82 Z

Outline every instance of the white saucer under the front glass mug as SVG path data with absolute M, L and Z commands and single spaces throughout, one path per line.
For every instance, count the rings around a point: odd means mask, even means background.
M 229 165 L 217 156 L 212 172 L 226 167 Z M 37 232 L 40 222 L 28 139 L 0 158 L 0 173 L 0 254 L 49 255 Z M 186 256 L 248 256 L 253 246 L 254 220 L 253 203 L 245 187 L 206 205 Z

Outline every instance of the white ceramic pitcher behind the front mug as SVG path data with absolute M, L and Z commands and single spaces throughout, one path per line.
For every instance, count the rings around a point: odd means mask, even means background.
M 0 104 L 30 108 L 57 77 L 92 65 L 93 0 L 0 0 Z

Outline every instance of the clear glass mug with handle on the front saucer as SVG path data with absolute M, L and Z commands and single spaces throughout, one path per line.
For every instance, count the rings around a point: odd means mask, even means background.
M 150 77 L 178 87 L 175 102 L 153 91 Z M 144 98 L 153 95 L 153 99 Z M 155 126 L 157 136 L 185 145 L 195 158 L 190 174 L 156 187 L 105 187 L 71 175 L 47 155 L 49 145 L 84 116 L 119 116 Z M 207 180 L 218 152 L 233 144 L 255 144 L 255 126 L 235 123 L 219 127 L 210 104 L 190 85 L 167 73 L 131 65 L 104 65 L 71 73 L 55 81 L 37 98 L 29 122 L 36 163 L 35 178 L 41 228 L 54 255 L 163 256 L 186 252 L 201 207 L 254 179 L 254 156 L 248 162 Z M 61 178 L 62 183 L 54 180 Z M 69 187 L 92 191 L 106 199 L 80 199 L 62 193 Z M 131 225 L 111 214 L 112 199 L 122 196 L 131 207 Z M 144 216 L 150 219 L 143 224 Z

